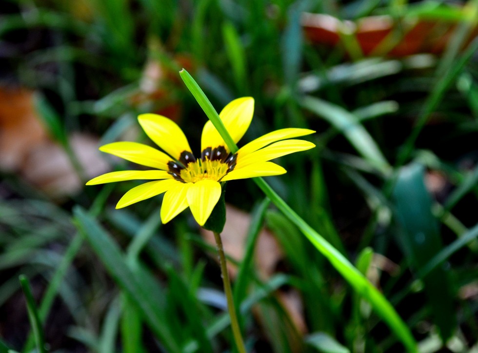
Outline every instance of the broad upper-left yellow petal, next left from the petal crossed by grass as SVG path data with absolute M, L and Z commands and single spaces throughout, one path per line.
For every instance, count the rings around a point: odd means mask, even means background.
M 173 120 L 157 114 L 141 114 L 138 121 L 146 135 L 170 156 L 179 159 L 181 152 L 191 153 L 186 136 Z

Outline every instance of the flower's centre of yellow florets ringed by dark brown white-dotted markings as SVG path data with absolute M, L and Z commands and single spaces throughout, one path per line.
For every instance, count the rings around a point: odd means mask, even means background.
M 176 180 L 186 183 L 195 183 L 204 179 L 220 181 L 234 169 L 236 159 L 237 155 L 227 153 L 222 146 L 204 149 L 200 159 L 196 159 L 191 153 L 184 151 L 179 157 L 180 163 L 168 163 L 169 174 Z

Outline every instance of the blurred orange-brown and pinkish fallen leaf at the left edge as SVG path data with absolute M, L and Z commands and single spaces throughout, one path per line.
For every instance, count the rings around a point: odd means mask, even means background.
M 33 103 L 33 91 L 0 87 L 0 169 L 16 173 L 47 195 L 74 195 L 82 188 L 65 150 L 44 128 Z M 69 137 L 85 177 L 108 171 L 100 157 L 97 137 L 74 134 Z

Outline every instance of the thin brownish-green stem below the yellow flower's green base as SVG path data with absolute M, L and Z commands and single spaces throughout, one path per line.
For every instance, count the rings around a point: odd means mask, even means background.
M 227 272 L 226 265 L 226 256 L 224 255 L 224 249 L 222 248 L 221 235 L 219 233 L 213 232 L 214 238 L 216 239 L 216 245 L 218 246 L 219 253 L 219 263 L 221 266 L 221 275 L 222 275 L 222 284 L 224 285 L 224 293 L 226 294 L 227 299 L 227 310 L 229 311 L 229 316 L 231 317 L 231 328 L 234 335 L 234 340 L 236 341 L 236 346 L 239 353 L 246 353 L 244 347 L 244 342 L 242 341 L 242 336 L 240 334 L 238 317 L 236 315 L 236 309 L 234 307 L 234 299 L 232 297 L 231 282 L 229 281 L 229 275 Z

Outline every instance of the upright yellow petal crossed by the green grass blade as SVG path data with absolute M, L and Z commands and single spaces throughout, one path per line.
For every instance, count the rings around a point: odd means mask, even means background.
M 227 104 L 219 113 L 219 118 L 221 118 L 234 142 L 237 143 L 249 128 L 253 115 L 254 98 L 242 97 Z M 208 121 L 202 129 L 201 151 L 204 151 L 207 147 L 216 148 L 218 146 L 224 146 L 229 151 L 212 122 Z

